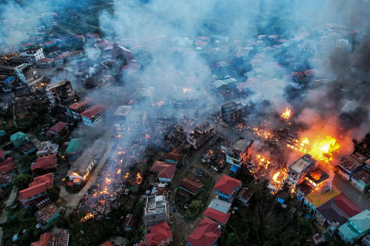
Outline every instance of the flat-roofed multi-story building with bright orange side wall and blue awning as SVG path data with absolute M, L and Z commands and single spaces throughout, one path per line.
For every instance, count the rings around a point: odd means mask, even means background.
M 231 164 L 230 170 L 236 173 L 246 164 L 252 155 L 253 140 L 240 136 L 226 151 L 226 162 Z

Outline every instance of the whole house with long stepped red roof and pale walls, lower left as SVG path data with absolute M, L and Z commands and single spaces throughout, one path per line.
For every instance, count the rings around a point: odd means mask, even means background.
M 19 201 L 23 207 L 30 207 L 31 204 L 46 197 L 46 189 L 53 188 L 53 174 L 48 173 L 35 177 L 33 182 L 28 184 L 28 188 L 19 191 Z

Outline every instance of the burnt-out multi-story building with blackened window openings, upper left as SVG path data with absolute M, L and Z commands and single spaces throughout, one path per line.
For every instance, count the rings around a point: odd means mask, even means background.
M 48 84 L 45 90 L 49 101 L 53 106 L 74 98 L 72 84 L 67 79 L 61 80 L 57 83 Z

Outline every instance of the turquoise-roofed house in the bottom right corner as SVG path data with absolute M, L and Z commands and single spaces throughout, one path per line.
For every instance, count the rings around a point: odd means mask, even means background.
M 338 235 L 344 242 L 353 244 L 370 231 L 370 211 L 366 209 L 348 219 L 338 228 Z

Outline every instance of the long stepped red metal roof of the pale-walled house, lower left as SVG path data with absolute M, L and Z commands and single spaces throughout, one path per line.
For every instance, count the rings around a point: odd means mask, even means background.
M 54 184 L 53 174 L 48 173 L 33 179 L 33 182 L 28 184 L 28 188 L 19 191 L 19 201 L 36 194 L 46 191 L 47 188 L 52 188 Z

